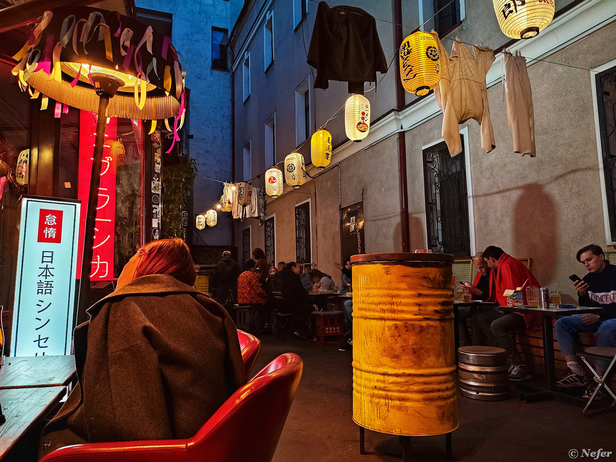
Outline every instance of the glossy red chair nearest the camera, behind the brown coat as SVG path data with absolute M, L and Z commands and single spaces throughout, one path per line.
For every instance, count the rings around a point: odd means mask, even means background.
M 195 436 L 186 440 L 67 446 L 39 462 L 268 462 L 274 458 L 303 363 L 278 356 L 233 393 Z

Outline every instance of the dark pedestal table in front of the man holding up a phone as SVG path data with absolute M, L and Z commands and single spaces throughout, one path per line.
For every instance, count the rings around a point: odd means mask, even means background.
M 537 313 L 541 315 L 543 330 L 543 360 L 545 361 L 545 376 L 548 391 L 556 391 L 556 365 L 554 363 L 554 335 L 552 333 L 552 318 L 572 314 L 594 313 L 602 308 L 579 306 L 575 308 L 540 308 L 537 306 L 501 306 L 501 311 L 508 313 Z

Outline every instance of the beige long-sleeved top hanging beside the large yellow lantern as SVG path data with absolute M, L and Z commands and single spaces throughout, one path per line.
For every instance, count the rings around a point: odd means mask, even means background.
M 458 124 L 474 119 L 481 126 L 481 147 L 485 152 L 495 147 L 494 131 L 488 107 L 488 91 L 485 75 L 494 62 L 494 54 L 488 47 L 473 46 L 475 55 L 455 40 L 452 54 L 445 51 L 439 34 L 431 32 L 439 46 L 441 77 L 434 87 L 436 102 L 443 111 L 442 137 L 453 157 L 462 152 Z

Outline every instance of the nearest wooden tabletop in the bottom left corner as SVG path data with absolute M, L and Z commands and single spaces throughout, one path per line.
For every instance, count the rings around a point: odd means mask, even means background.
M 67 392 L 65 386 L 22 387 L 0 390 L 6 423 L 0 426 L 0 459 L 26 432 L 40 423 Z

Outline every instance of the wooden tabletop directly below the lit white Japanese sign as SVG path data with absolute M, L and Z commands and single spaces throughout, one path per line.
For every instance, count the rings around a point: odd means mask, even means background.
M 75 378 L 75 356 L 73 355 L 7 356 L 0 369 L 0 390 L 65 386 Z

